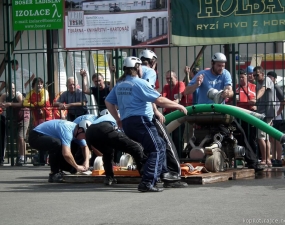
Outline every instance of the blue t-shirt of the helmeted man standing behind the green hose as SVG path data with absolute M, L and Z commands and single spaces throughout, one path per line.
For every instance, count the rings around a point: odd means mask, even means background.
M 199 87 L 198 94 L 198 104 L 212 104 L 213 100 L 209 99 L 207 93 L 210 88 L 215 88 L 217 90 L 224 90 L 228 85 L 232 85 L 232 78 L 229 71 L 226 69 L 223 70 L 221 75 L 212 74 L 211 70 L 203 70 L 197 73 L 193 79 L 190 81 L 188 86 L 196 83 L 196 79 L 200 74 L 204 74 L 204 80 L 201 86 Z

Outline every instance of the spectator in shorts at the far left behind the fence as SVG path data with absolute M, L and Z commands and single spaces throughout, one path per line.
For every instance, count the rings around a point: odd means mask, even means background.
M 25 163 L 25 138 L 30 122 L 30 112 L 29 109 L 22 108 L 23 96 L 19 91 L 15 91 L 14 83 L 11 84 L 11 87 L 12 91 L 8 90 L 7 93 L 1 95 L 0 107 L 7 108 L 6 119 L 10 134 L 13 132 L 13 136 L 17 138 L 18 157 L 16 166 L 22 166 Z M 11 94 L 11 102 L 7 102 L 9 94 Z

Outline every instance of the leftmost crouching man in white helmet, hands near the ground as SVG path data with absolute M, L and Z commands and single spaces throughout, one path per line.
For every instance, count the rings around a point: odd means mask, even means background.
M 78 125 L 65 120 L 46 121 L 34 128 L 29 135 L 29 144 L 38 151 L 48 151 L 51 173 L 48 182 L 63 182 L 63 171 L 78 172 L 89 168 L 89 148 L 86 145 L 85 133 L 91 123 L 81 121 Z M 78 165 L 71 151 L 74 141 L 82 149 L 83 165 Z

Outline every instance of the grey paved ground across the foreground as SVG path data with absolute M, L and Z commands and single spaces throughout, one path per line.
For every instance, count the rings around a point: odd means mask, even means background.
M 49 184 L 48 173 L 0 167 L 1 225 L 285 224 L 284 170 L 162 193 L 139 193 L 137 185 Z

